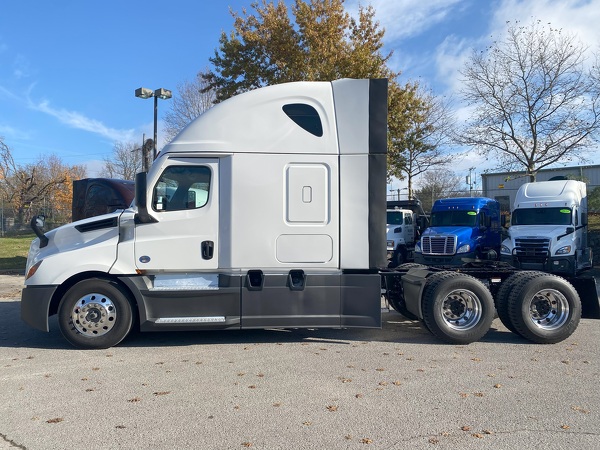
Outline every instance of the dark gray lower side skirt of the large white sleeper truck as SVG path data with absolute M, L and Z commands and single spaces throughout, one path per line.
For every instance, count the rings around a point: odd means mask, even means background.
M 138 305 L 140 329 L 381 327 L 379 274 L 219 275 L 218 289 L 152 290 L 146 277 L 123 277 Z M 302 271 L 299 271 L 302 272 Z

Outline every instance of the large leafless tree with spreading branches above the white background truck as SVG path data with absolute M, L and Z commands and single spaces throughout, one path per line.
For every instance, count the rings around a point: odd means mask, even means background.
M 459 141 L 532 181 L 544 167 L 581 158 L 600 126 L 598 68 L 586 69 L 586 50 L 538 21 L 509 26 L 503 41 L 474 51 L 462 71 L 473 110 Z

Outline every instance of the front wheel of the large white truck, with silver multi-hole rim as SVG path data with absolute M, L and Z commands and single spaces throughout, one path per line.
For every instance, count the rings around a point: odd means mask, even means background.
M 127 292 L 111 280 L 92 278 L 71 287 L 60 302 L 58 325 L 78 348 L 109 348 L 121 342 L 133 325 Z

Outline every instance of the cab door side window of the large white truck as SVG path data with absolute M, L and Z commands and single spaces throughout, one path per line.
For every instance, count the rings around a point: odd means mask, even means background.
M 206 166 L 170 166 L 154 186 L 155 211 L 202 208 L 208 202 L 210 169 Z

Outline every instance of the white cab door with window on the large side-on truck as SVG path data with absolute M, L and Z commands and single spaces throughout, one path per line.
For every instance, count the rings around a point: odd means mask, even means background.
M 218 159 L 170 160 L 148 193 L 148 210 L 157 222 L 136 226 L 135 261 L 139 269 L 218 268 L 218 186 Z

